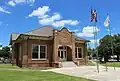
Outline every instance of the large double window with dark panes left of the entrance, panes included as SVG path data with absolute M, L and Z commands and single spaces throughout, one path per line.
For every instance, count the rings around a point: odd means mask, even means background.
M 32 59 L 45 59 L 46 58 L 46 46 L 45 45 L 32 45 Z

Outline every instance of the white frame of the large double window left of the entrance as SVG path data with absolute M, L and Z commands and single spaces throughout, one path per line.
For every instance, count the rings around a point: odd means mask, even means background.
M 38 44 L 32 44 L 32 52 L 31 55 L 33 53 L 33 45 L 38 45 Z M 40 46 L 45 46 L 45 58 L 40 58 Z M 38 58 L 34 59 L 32 58 L 32 60 L 46 60 L 47 58 L 47 45 L 38 45 Z

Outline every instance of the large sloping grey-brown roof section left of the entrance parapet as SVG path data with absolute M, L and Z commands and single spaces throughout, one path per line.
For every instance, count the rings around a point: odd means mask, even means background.
M 50 26 L 44 26 L 44 27 L 40 27 L 38 29 L 26 32 L 24 34 L 27 35 L 37 35 L 37 36 L 53 36 L 53 27 Z

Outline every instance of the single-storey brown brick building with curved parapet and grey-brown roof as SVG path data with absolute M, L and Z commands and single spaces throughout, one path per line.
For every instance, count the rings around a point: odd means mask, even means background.
M 40 27 L 23 34 L 11 34 L 12 64 L 19 67 L 58 67 L 59 61 L 76 65 L 87 62 L 87 40 L 63 27 Z

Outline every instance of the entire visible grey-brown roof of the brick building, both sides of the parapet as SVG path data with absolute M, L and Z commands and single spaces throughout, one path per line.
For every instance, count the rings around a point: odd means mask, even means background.
M 63 29 L 67 29 L 67 28 L 63 27 L 59 31 L 61 31 Z M 25 32 L 22 35 L 33 35 L 33 36 L 49 37 L 49 36 L 53 36 L 53 30 L 56 30 L 56 29 L 54 27 L 52 27 L 52 26 L 43 26 L 43 27 L 40 27 L 38 29 Z M 69 31 L 69 29 L 67 29 L 67 30 Z M 71 31 L 69 31 L 69 32 L 71 32 Z M 20 35 L 21 34 L 18 34 L 18 33 L 12 33 L 11 34 L 11 41 L 16 40 Z M 75 40 L 83 40 L 83 41 L 87 41 L 88 42 L 88 40 L 80 38 L 80 37 L 77 37 L 77 36 L 75 36 Z

